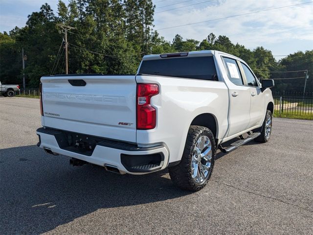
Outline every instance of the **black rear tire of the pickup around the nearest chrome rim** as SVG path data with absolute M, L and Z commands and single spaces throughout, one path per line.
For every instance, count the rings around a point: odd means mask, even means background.
M 197 141 L 203 136 L 204 138 L 208 137 L 211 142 L 212 157 L 205 180 L 201 183 L 197 183 L 192 177 L 192 158 Z M 199 191 L 202 189 L 211 177 L 214 166 L 215 153 L 215 139 L 211 130 L 203 126 L 190 126 L 180 163 L 178 165 L 169 167 L 169 173 L 173 183 L 179 188 L 185 190 Z

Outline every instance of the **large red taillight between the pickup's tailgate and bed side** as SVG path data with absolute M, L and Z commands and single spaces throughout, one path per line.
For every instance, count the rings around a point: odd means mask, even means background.
M 137 84 L 137 129 L 149 130 L 156 127 L 156 109 L 151 105 L 151 97 L 158 94 L 156 84 Z

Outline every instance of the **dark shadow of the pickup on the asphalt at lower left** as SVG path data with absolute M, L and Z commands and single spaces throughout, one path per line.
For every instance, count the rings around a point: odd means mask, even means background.
M 1 234 L 41 234 L 98 209 L 183 197 L 167 171 L 117 175 L 45 154 L 36 145 L 0 150 Z

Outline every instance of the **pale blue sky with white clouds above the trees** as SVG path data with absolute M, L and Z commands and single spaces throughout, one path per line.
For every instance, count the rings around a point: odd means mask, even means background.
M 23 27 L 27 16 L 39 11 L 45 2 L 57 12 L 58 0 L 0 0 L 0 32 L 8 32 L 15 26 Z M 180 34 L 184 39 L 202 41 L 213 32 L 217 36 L 225 35 L 232 43 L 239 43 L 250 49 L 263 46 L 270 49 L 273 55 L 288 55 L 298 50 L 313 49 L 313 1 L 310 0 L 153 2 L 156 5 L 154 28 L 168 41 L 172 41 L 176 34 Z M 289 6 L 305 2 L 310 3 Z M 284 8 L 268 10 L 277 7 Z M 257 11 L 261 12 L 256 13 Z M 242 16 L 232 17 L 234 15 Z M 192 24 L 197 22 L 203 23 Z M 173 27 L 182 24 L 190 25 Z

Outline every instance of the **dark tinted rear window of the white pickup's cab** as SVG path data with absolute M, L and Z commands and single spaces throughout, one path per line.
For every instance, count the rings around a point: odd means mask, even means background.
M 140 74 L 217 80 L 212 56 L 144 60 Z

